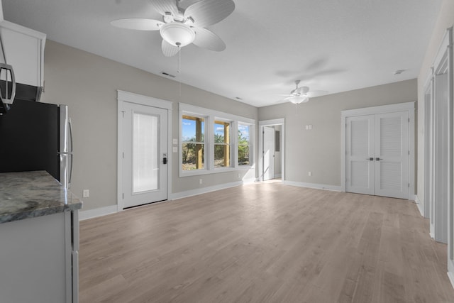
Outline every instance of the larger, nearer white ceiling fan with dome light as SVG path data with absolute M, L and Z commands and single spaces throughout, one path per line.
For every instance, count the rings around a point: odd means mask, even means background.
M 179 6 L 182 0 L 149 1 L 155 11 L 162 15 L 162 21 L 125 18 L 111 21 L 111 25 L 138 31 L 160 31 L 161 49 L 166 57 L 177 55 L 180 48 L 190 43 L 217 52 L 226 49 L 226 43 L 205 27 L 230 15 L 235 10 L 232 0 L 200 0 L 186 9 Z

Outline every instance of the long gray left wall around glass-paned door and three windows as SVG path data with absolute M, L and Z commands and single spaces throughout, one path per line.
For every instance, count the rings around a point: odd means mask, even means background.
M 258 109 L 238 101 L 138 70 L 118 62 L 70 48 L 51 40 L 45 47 L 45 92 L 41 101 L 70 106 L 74 126 L 74 175 L 72 191 L 84 198 L 84 210 L 116 205 L 117 184 L 117 89 L 173 101 L 172 138 L 179 138 L 178 102 L 258 119 Z M 238 181 L 238 172 L 178 177 L 178 158 L 173 154 L 172 193 Z M 255 157 L 256 158 L 256 157 Z M 254 175 L 254 174 L 252 174 Z

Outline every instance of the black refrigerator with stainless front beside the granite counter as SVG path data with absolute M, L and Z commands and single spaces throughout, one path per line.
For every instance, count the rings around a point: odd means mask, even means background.
M 70 187 L 72 131 L 66 105 L 15 99 L 0 116 L 0 172 L 31 170 L 46 170 Z

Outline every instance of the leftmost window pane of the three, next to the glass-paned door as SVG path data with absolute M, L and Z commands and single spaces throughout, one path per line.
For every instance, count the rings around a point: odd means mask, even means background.
M 205 119 L 182 116 L 182 170 L 205 168 Z

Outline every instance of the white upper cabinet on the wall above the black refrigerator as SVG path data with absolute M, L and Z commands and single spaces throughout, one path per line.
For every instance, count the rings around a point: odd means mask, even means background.
M 0 35 L 6 63 L 13 67 L 16 83 L 43 87 L 46 35 L 9 21 L 0 22 Z

